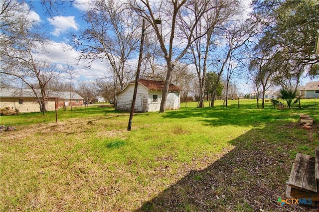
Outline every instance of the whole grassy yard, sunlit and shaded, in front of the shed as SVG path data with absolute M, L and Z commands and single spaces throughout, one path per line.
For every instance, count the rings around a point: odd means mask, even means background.
M 318 100 L 317 100 L 318 101 Z M 311 211 L 276 203 L 297 152 L 314 155 L 319 101 L 181 104 L 165 113 L 77 107 L 1 116 L 0 211 Z

